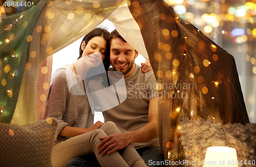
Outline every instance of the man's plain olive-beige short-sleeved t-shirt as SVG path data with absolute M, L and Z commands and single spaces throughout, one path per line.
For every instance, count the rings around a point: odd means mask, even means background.
M 118 82 L 120 80 L 113 78 L 111 75 L 109 75 L 109 78 L 111 84 L 113 84 L 113 81 Z M 98 89 L 99 84 L 101 84 L 99 80 L 102 80 L 102 78 L 99 77 L 89 82 L 89 88 L 92 89 L 92 91 Z M 126 93 L 127 98 L 116 107 L 103 111 L 105 122 L 114 122 L 122 133 L 138 130 L 148 124 L 148 107 L 150 99 L 158 97 L 156 79 L 153 71 L 142 73 L 141 67 L 136 65 L 134 73 L 125 77 L 124 80 L 126 92 L 117 90 L 117 94 L 119 97 L 123 97 L 123 93 Z M 111 97 L 108 99 L 108 97 L 100 96 L 98 94 L 97 99 L 99 98 L 111 100 Z M 150 141 L 133 143 L 133 146 L 136 149 L 142 147 L 158 147 L 159 140 L 157 137 Z

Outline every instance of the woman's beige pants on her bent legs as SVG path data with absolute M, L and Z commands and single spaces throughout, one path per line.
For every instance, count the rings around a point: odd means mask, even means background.
M 143 159 L 134 149 L 132 144 L 129 144 L 126 148 L 124 148 L 120 154 L 117 151 L 111 155 L 105 154 L 104 156 L 102 156 L 101 154 L 99 154 L 97 149 L 98 145 L 101 142 L 101 140 L 99 140 L 99 137 L 104 137 L 113 133 L 121 132 L 116 127 L 115 123 L 106 122 L 104 125 L 101 126 L 100 129 L 96 129 L 89 133 L 84 133 L 75 137 L 71 137 L 65 141 L 59 142 L 58 144 L 54 145 L 52 149 L 53 166 L 63 167 L 70 159 L 91 154 L 95 154 L 99 164 L 102 167 L 129 167 L 138 160 L 143 161 Z

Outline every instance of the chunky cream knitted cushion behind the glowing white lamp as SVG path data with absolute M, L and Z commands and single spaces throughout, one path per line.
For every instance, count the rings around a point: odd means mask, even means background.
M 248 163 L 250 160 L 251 165 L 243 164 L 243 166 L 255 166 L 256 164 L 256 124 L 222 125 L 220 122 L 216 123 L 202 118 L 189 121 L 187 117 L 182 118 L 179 127 L 180 141 L 187 161 L 194 161 L 193 163 L 200 161 L 203 164 L 208 147 L 225 146 L 237 150 L 239 163 L 241 160 L 242 163 L 245 160 Z M 184 163 L 185 166 L 188 166 L 187 164 L 189 163 Z

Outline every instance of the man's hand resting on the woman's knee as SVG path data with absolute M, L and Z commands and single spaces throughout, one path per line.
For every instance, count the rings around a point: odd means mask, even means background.
M 109 155 L 117 150 L 121 150 L 130 144 L 129 134 L 115 133 L 109 136 L 100 137 L 101 143 L 98 146 L 98 153 L 104 156 L 106 153 Z

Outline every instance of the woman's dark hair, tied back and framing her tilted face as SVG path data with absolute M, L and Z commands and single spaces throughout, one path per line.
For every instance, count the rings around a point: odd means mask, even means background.
M 96 36 L 101 36 L 106 40 L 106 52 L 105 52 L 105 59 L 103 60 L 103 65 L 105 68 L 105 71 L 107 71 L 110 67 L 110 52 L 109 52 L 109 43 L 108 43 L 108 38 L 109 38 L 110 33 L 108 31 L 106 31 L 105 29 L 101 29 L 101 28 L 95 28 L 93 29 L 90 33 L 88 33 L 86 36 L 83 37 L 82 42 L 86 42 L 86 45 L 88 44 L 89 40 L 91 40 L 93 37 Z M 82 42 L 80 44 L 79 47 L 79 57 L 78 59 L 82 56 Z

